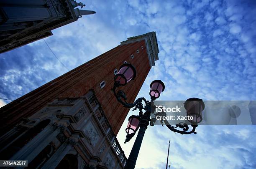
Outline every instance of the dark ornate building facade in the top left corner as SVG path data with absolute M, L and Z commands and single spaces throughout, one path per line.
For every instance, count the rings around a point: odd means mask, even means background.
M 0 53 L 51 36 L 51 30 L 95 13 L 77 6 L 85 5 L 74 0 L 1 0 Z

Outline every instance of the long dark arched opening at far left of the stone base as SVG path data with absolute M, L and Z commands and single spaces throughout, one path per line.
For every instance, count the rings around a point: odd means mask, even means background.
M 1 159 L 10 159 L 16 152 L 18 152 L 23 146 L 28 144 L 38 133 L 40 133 L 44 128 L 51 122 L 51 120 L 46 119 L 38 123 L 35 127 L 26 131 L 20 138 L 14 141 L 10 146 L 8 146 L 4 151 L 2 151 Z

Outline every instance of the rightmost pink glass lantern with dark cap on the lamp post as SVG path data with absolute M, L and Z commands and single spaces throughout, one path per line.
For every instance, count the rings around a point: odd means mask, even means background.
M 200 98 L 189 98 L 184 103 L 184 108 L 187 111 L 187 116 L 192 116 L 193 119 L 188 121 L 191 124 L 198 124 L 202 121 L 202 111 L 205 109 L 205 103 Z

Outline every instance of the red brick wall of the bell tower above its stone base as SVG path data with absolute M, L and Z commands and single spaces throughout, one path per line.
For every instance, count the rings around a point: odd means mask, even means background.
M 139 50 L 139 53 L 136 50 Z M 123 61 L 136 68 L 136 79 L 122 87 L 128 102 L 133 102 L 150 70 L 144 40 L 119 45 L 3 106 L 0 108 L 0 135 L 18 124 L 22 118 L 36 113 L 54 98 L 79 97 L 90 89 L 95 91 L 114 133 L 117 134 L 129 109 L 116 101 L 110 89 L 113 87 L 114 69 L 119 70 Z M 102 81 L 106 82 L 106 86 L 101 89 Z

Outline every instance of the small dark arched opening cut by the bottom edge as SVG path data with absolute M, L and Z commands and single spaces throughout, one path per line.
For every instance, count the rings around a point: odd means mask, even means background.
M 73 154 L 67 154 L 59 162 L 58 166 L 56 166 L 55 169 L 77 169 L 77 168 L 78 168 L 77 157 Z

